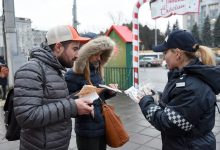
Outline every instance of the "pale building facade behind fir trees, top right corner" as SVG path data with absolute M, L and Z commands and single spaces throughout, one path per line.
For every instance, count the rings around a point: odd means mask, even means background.
M 220 0 L 200 0 L 200 12 L 183 15 L 183 28 L 189 31 L 197 23 L 200 31 L 204 24 L 205 18 L 209 16 L 211 30 L 214 28 L 215 21 L 220 14 Z

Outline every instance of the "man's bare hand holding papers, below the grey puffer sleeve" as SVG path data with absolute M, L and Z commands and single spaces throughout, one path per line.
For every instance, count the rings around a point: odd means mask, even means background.
M 79 98 L 76 99 L 75 102 L 77 106 L 78 115 L 90 114 L 93 111 L 93 107 L 89 105 L 92 104 L 91 100 Z

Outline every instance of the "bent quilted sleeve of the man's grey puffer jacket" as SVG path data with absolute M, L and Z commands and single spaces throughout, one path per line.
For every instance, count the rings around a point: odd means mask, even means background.
M 14 112 L 22 128 L 43 127 L 77 115 L 73 99 L 57 97 L 56 100 L 48 99 L 45 103 L 43 99 L 46 97 L 43 93 L 42 70 L 39 64 L 27 63 L 16 72 Z

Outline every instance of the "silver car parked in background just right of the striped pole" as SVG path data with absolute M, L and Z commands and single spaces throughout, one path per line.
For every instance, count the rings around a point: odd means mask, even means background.
M 154 57 L 143 57 L 139 60 L 140 67 L 161 66 L 162 61 Z

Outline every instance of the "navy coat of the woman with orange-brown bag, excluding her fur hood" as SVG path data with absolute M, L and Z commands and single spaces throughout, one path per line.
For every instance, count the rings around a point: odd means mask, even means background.
M 96 73 L 95 68 L 90 66 L 90 78 L 94 86 L 104 84 L 102 78 Z M 84 76 L 75 74 L 73 70 L 69 70 L 65 75 L 65 80 L 70 94 L 80 91 L 83 85 L 88 84 Z M 109 90 L 105 90 L 100 94 L 102 100 L 106 100 L 115 96 L 110 94 Z M 75 132 L 79 136 L 83 137 L 98 137 L 104 135 L 104 118 L 101 112 L 101 100 L 97 99 L 93 102 L 95 117 L 91 115 L 82 115 L 75 119 Z

